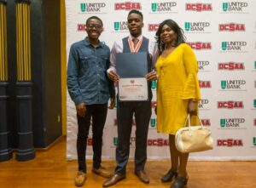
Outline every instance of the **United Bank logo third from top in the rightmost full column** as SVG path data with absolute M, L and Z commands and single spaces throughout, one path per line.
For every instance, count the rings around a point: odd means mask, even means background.
M 220 86 L 223 90 L 241 90 L 246 85 L 245 80 L 221 80 Z

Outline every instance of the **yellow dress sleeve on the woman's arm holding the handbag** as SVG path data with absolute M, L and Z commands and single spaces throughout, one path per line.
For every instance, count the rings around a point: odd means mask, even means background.
M 183 44 L 183 65 L 187 74 L 182 99 L 201 100 L 200 85 L 197 77 L 197 60 L 188 44 Z

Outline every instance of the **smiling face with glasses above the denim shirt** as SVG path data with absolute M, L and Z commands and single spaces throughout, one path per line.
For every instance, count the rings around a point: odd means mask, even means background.
M 86 32 L 90 39 L 98 39 L 102 34 L 102 22 L 97 19 L 90 19 L 86 24 Z

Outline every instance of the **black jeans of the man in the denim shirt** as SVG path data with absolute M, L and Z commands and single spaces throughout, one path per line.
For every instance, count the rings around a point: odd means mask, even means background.
M 108 104 L 86 105 L 85 117 L 78 117 L 79 131 L 77 139 L 77 151 L 79 171 L 86 173 L 85 152 L 87 138 L 92 122 L 92 149 L 93 167 L 100 168 L 102 162 L 102 134 L 106 122 Z

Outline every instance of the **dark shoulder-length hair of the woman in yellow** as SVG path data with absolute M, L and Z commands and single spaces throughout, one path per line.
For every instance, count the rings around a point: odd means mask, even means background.
M 173 44 L 174 47 L 177 47 L 179 44 L 185 43 L 185 41 L 186 41 L 186 37 L 183 34 L 183 29 L 180 28 L 180 26 L 178 26 L 177 23 L 174 20 L 171 20 L 171 19 L 164 20 L 163 22 L 160 23 L 160 25 L 158 27 L 158 30 L 155 33 L 155 39 L 156 39 L 156 42 L 158 44 L 160 54 L 165 49 L 165 44 L 161 43 L 161 38 L 160 38 L 162 28 L 165 25 L 169 26 L 177 35 L 177 37 L 175 39 L 175 43 Z

